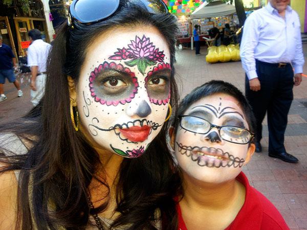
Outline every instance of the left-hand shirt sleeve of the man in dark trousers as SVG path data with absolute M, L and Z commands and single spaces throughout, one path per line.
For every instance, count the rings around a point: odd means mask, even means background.
M 249 80 L 257 78 L 254 50 L 259 39 L 259 19 L 252 13 L 245 21 L 240 45 L 240 57 Z

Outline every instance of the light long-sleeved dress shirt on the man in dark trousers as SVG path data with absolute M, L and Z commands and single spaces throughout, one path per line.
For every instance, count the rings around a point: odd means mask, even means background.
M 297 13 L 288 6 L 282 17 L 270 2 L 253 12 L 244 24 L 240 56 L 250 80 L 257 78 L 255 59 L 291 63 L 295 74 L 302 73 L 304 56 Z

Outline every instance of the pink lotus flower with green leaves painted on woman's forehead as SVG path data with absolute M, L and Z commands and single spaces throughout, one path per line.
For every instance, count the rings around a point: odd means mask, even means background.
M 156 46 L 150 42 L 150 38 L 143 35 L 142 39 L 136 36 L 135 40 L 130 40 L 128 48 L 117 49 L 114 55 L 109 57 L 112 60 L 126 60 L 125 64 L 128 66 L 138 66 L 139 71 L 144 74 L 148 65 L 155 65 L 157 62 L 164 61 L 163 51 L 156 49 Z

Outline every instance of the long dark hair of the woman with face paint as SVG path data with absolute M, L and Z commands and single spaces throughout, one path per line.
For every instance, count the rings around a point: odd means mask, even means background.
M 26 116 L 0 127 L 0 133 L 13 133 L 30 146 L 21 155 L 5 147 L 2 151 L 10 151 L 11 156 L 1 155 L 0 151 L 0 162 L 9 163 L 0 172 L 19 171 L 16 229 L 84 229 L 90 214 L 106 208 L 107 195 L 98 208 L 90 211 L 88 205 L 88 187 L 96 178 L 100 161 L 95 149 L 71 124 L 67 76 L 78 81 L 86 48 L 97 35 L 116 26 L 139 24 L 156 27 L 168 43 L 172 68 L 170 103 L 176 110 L 173 60 L 177 25 L 172 15 L 150 14 L 136 3 L 123 6 L 112 18 L 97 24 L 76 23 L 73 29 L 63 24 L 48 58 L 45 96 Z M 168 220 L 166 229 L 176 228 L 173 197 L 181 181 L 167 149 L 168 125 L 164 124 L 142 157 L 123 159 L 116 194 L 116 211 L 121 215 L 112 227 L 129 224 L 127 229 L 156 229 L 152 221 L 163 216 Z M 103 179 L 97 180 L 108 189 Z M 161 216 L 157 217 L 157 209 Z

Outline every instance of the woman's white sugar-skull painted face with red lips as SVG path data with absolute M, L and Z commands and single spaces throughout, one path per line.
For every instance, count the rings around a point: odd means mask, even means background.
M 77 106 L 82 130 L 96 146 L 124 157 L 145 152 L 167 116 L 169 62 L 167 43 L 155 28 L 118 28 L 90 45 Z

